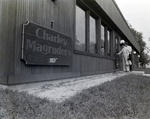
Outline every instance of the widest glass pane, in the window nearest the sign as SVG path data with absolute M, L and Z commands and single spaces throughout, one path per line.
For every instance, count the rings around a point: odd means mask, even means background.
M 85 51 L 85 11 L 76 6 L 75 49 Z

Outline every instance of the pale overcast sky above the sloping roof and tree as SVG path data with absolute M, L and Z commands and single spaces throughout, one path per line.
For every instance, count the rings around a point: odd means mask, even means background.
M 150 48 L 150 0 L 115 0 L 124 18 L 138 32 Z

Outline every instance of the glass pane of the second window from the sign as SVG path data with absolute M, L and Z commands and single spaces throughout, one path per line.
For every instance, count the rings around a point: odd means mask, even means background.
M 96 53 L 96 20 L 90 16 L 90 52 Z

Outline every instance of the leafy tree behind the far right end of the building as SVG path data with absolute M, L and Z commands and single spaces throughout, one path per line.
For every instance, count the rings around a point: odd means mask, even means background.
M 132 28 L 131 24 L 129 24 L 130 30 L 139 43 L 140 46 L 140 59 L 139 62 L 141 63 L 142 67 L 145 67 L 146 64 L 150 62 L 150 57 L 148 55 L 150 49 L 146 46 L 146 43 L 143 41 L 143 33 L 138 32 L 134 28 Z

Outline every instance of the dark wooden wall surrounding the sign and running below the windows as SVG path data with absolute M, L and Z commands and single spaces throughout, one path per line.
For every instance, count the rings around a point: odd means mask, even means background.
M 71 66 L 27 66 L 21 59 L 22 24 L 31 21 L 75 38 L 75 0 L 0 1 L 1 83 L 54 80 L 115 71 L 113 59 L 73 55 Z M 4 77 L 4 78 L 2 78 Z

